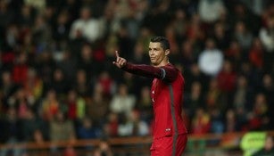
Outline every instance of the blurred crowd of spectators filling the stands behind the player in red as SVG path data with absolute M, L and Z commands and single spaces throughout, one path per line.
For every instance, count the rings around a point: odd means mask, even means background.
M 149 64 L 170 40 L 190 134 L 274 129 L 271 0 L 0 0 L 0 143 L 150 135 Z

